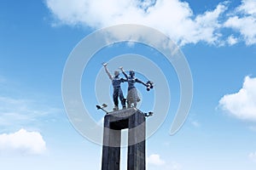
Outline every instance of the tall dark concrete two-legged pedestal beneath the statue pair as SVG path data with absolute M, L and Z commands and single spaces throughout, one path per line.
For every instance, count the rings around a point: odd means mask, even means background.
M 104 117 L 102 170 L 119 170 L 121 130 L 128 128 L 127 170 L 145 170 L 145 116 L 130 108 Z

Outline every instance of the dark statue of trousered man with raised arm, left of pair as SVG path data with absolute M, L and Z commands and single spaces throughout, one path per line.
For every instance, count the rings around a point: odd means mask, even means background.
M 108 74 L 109 79 L 112 81 L 113 85 L 113 111 L 119 110 L 119 100 L 123 106 L 123 109 L 126 109 L 125 98 L 121 88 L 121 82 L 125 82 L 125 79 L 119 77 L 119 71 L 114 71 L 113 76 L 108 71 L 107 65 L 108 63 L 102 64 L 105 68 L 106 73 Z M 119 99 L 118 99 L 119 98 Z

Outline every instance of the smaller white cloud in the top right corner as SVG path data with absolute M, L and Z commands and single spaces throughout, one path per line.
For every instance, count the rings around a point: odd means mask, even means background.
M 256 1 L 242 0 L 224 26 L 238 31 L 247 45 L 256 43 Z

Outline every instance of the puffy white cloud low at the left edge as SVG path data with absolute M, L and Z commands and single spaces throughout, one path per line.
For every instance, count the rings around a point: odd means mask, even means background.
M 20 129 L 16 133 L 0 134 L 0 152 L 19 152 L 22 154 L 43 154 L 46 144 L 38 132 Z

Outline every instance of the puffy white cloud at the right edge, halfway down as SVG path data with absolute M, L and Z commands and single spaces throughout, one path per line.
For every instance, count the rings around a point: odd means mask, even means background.
M 226 94 L 219 106 L 242 120 L 256 121 L 256 77 L 245 77 L 242 88 L 236 94 Z

